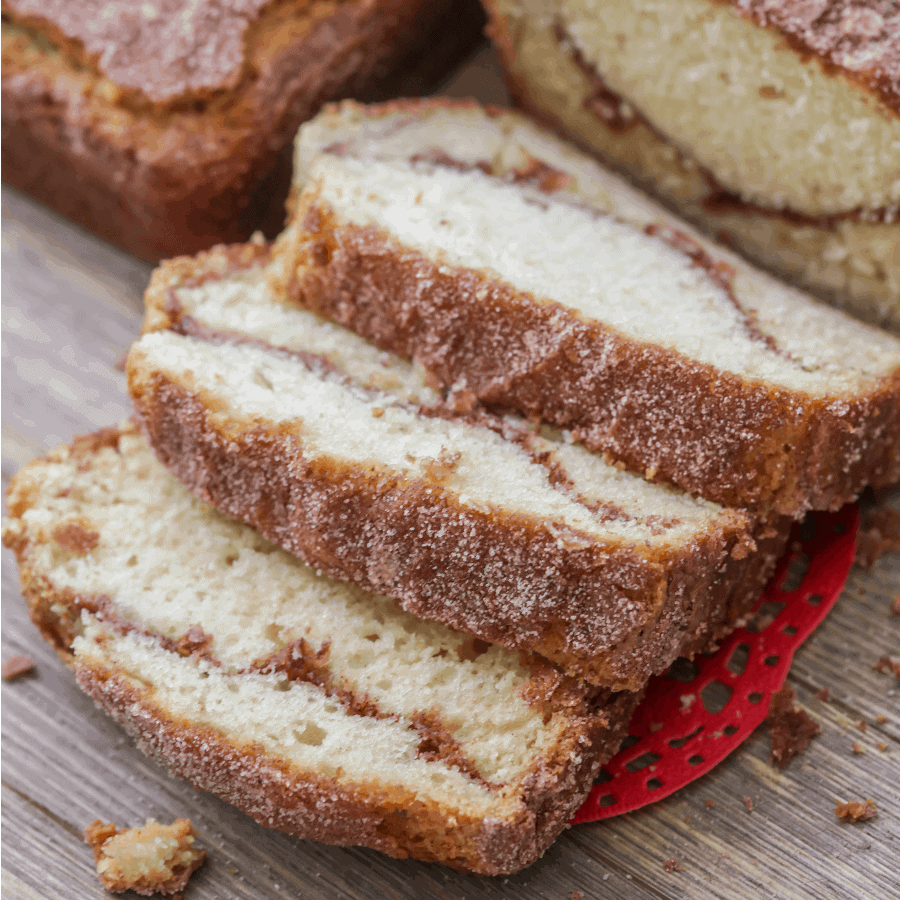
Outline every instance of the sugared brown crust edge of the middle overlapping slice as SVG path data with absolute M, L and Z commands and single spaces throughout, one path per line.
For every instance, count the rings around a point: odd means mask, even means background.
M 202 281 L 229 261 L 259 261 L 258 252 L 219 248 L 165 264 L 147 292 L 148 326 L 173 324 L 166 310 L 181 279 Z M 542 523 L 463 506 L 433 484 L 311 460 L 287 429 L 218 416 L 202 391 L 144 366 L 139 348 L 128 374 L 160 461 L 205 502 L 415 615 L 533 650 L 616 690 L 637 690 L 734 627 L 786 540 L 785 522 L 733 512 L 668 550 L 594 538 L 560 546 Z M 753 539 L 757 553 L 748 552 Z

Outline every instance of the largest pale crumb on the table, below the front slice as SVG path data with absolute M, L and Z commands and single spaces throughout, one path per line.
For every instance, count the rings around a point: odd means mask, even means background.
M 100 883 L 114 894 L 178 895 L 206 859 L 206 851 L 194 847 L 190 819 L 171 825 L 147 819 L 146 825 L 121 829 L 97 819 L 84 839 L 93 848 Z

